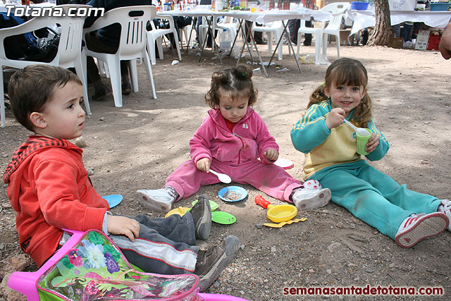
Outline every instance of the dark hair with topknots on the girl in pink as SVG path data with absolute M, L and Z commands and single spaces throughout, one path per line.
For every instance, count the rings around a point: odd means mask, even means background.
M 219 89 L 230 92 L 232 99 L 242 95 L 249 95 L 248 106 L 257 102 L 257 90 L 252 83 L 252 67 L 245 64 L 237 65 L 235 68 L 216 71 L 211 75 L 211 87 L 205 94 L 205 102 L 211 109 L 219 108 Z

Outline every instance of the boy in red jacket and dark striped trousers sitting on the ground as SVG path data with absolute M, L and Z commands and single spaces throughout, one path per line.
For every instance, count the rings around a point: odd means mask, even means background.
M 55 66 L 27 66 L 11 77 L 8 92 L 14 116 L 34 135 L 16 149 L 3 178 L 17 211 L 20 247 L 38 266 L 63 245 L 62 228 L 103 231 L 130 263 L 152 273 L 197 274 L 201 290 L 233 260 L 239 244 L 233 235 L 206 252 L 195 245 L 211 229 L 206 196 L 190 213 L 166 219 L 109 212 L 108 202 L 92 188 L 82 149 L 68 141 L 80 137 L 85 125 L 82 82 L 75 74 Z

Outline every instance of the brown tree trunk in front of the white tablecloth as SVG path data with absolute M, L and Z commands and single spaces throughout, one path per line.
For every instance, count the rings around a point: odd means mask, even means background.
M 374 0 L 374 12 L 376 14 L 376 25 L 374 25 L 373 33 L 369 36 L 368 45 L 387 45 L 391 30 L 388 0 Z

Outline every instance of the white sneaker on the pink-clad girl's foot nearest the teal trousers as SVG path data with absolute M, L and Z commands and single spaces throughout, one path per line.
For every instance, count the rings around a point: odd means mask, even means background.
M 299 189 L 296 190 L 291 199 L 298 210 L 311 210 L 326 206 L 330 200 L 330 189 Z

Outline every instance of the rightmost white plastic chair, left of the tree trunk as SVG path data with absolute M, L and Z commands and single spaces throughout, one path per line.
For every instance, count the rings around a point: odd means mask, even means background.
M 337 37 L 337 52 L 340 58 L 340 24 L 341 19 L 347 8 L 350 6 L 348 2 L 335 2 L 321 8 L 320 11 L 332 14 L 332 19 L 321 24 L 321 28 L 305 27 L 305 20 L 301 20 L 301 25 L 297 31 L 297 54 L 299 57 L 299 47 L 302 33 L 310 33 L 315 37 L 315 62 L 317 63 L 323 50 L 323 57 L 326 58 L 327 37 L 335 35 Z M 327 24 L 327 25 L 326 25 Z

